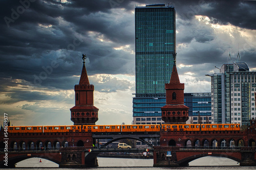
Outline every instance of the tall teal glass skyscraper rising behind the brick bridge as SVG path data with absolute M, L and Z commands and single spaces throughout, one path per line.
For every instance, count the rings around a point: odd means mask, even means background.
M 136 94 L 134 124 L 160 124 L 176 54 L 175 8 L 164 4 L 135 8 Z M 152 120 L 153 118 L 153 120 Z

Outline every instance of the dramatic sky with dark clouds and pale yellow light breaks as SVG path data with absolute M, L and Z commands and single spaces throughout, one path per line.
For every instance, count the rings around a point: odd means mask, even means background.
M 15 3 L 16 2 L 16 3 Z M 22 3 L 24 2 L 24 3 Z M 255 1 L 0 1 L 0 114 L 13 125 L 72 125 L 82 54 L 97 124 L 132 123 L 135 6 L 172 2 L 185 92 L 210 92 L 204 76 L 241 60 L 256 70 Z

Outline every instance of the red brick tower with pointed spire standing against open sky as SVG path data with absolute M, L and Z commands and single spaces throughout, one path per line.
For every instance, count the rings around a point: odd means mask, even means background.
M 98 108 L 93 106 L 94 85 L 89 83 L 84 60 L 79 84 L 75 85 L 75 106 L 70 109 L 74 125 L 95 125 L 98 120 Z

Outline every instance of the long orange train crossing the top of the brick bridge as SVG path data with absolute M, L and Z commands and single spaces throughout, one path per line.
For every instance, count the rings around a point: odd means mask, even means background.
M 72 125 L 72 126 L 10 126 L 9 133 L 57 132 L 158 132 L 158 131 L 240 131 L 240 124 L 163 124 L 163 125 Z

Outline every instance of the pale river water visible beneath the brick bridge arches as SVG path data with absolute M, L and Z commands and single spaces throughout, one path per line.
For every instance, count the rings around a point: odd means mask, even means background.
M 69 170 L 69 169 L 94 169 L 94 170 L 157 170 L 157 169 L 170 169 L 169 167 L 153 167 L 153 159 L 123 159 L 123 158 L 98 158 L 99 167 L 96 168 L 58 168 L 58 164 L 40 158 L 30 158 L 21 162 L 18 162 L 15 170 L 24 170 L 24 167 L 30 166 L 26 169 L 38 169 L 40 170 Z M 199 158 L 189 163 L 187 167 L 172 167 L 171 169 L 256 169 L 253 166 L 239 166 L 236 161 L 228 158 L 207 156 Z

